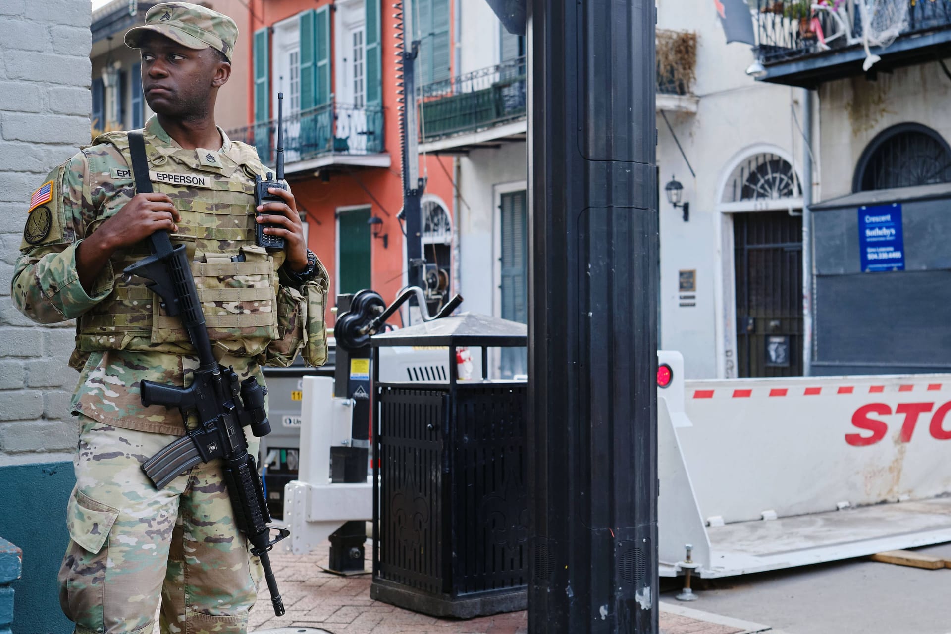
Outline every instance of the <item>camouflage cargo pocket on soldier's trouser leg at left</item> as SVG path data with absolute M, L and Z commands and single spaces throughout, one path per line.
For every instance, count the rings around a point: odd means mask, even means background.
M 67 507 L 69 546 L 60 567 L 60 605 L 70 620 L 102 631 L 108 546 L 119 510 L 73 490 Z

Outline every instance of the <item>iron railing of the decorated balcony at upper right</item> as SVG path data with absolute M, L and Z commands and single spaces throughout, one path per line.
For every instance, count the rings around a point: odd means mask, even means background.
M 896 8 L 870 0 L 757 0 L 759 59 L 763 64 L 774 64 L 842 48 L 862 47 L 863 3 L 869 8 L 866 16 L 879 12 L 873 23 L 882 26 L 885 36 L 889 24 L 894 27 L 893 38 L 951 27 L 951 0 L 904 1 L 906 18 L 889 20 L 883 12 Z M 903 13 L 905 7 L 900 4 L 897 9 Z

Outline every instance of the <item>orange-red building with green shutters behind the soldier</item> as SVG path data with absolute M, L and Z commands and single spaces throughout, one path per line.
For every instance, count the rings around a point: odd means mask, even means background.
M 373 288 L 389 302 L 406 283 L 405 223 L 398 219 L 399 12 L 392 3 L 248 2 L 252 32 L 244 37 L 251 46 L 243 60 L 251 69 L 248 125 L 228 133 L 255 144 L 264 163 L 274 165 L 278 93 L 283 94 L 285 178 L 308 244 L 330 272 L 331 306 L 340 293 L 362 288 Z M 414 10 L 422 11 L 420 24 L 445 23 L 445 37 L 434 41 L 443 48 L 445 40 L 448 64 L 449 3 L 417 0 Z M 423 48 L 420 64 L 432 67 L 432 48 Z M 453 270 L 453 169 L 452 157 L 420 158 L 419 174 L 428 178 L 424 255 L 447 274 Z

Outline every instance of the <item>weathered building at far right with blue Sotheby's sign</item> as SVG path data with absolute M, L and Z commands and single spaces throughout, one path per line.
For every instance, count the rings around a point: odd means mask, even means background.
M 844 0 L 796 21 L 750 5 L 759 81 L 816 103 L 812 374 L 947 372 L 951 6 Z

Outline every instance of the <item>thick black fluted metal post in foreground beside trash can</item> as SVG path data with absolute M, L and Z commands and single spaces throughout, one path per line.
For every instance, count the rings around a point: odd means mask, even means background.
M 653 634 L 654 3 L 528 0 L 530 634 Z

